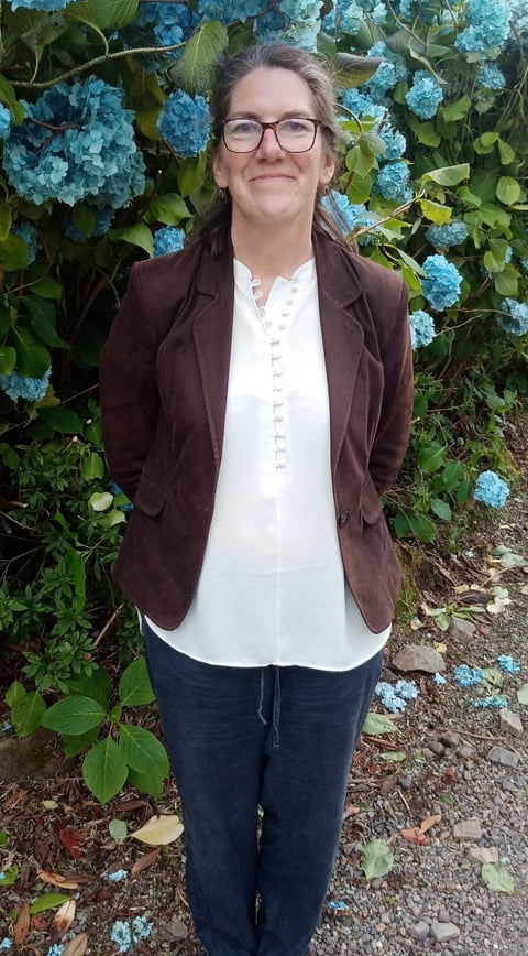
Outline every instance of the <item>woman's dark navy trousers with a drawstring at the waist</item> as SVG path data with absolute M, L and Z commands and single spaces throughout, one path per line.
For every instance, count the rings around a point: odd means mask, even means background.
M 143 631 L 182 797 L 196 934 L 210 956 L 302 956 L 382 654 L 344 672 L 219 667 Z

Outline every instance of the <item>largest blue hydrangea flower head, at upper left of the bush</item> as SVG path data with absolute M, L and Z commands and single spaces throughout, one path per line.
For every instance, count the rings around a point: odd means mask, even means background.
M 96 198 L 114 209 L 144 189 L 144 163 L 134 142 L 133 112 L 123 90 L 102 79 L 58 83 L 34 104 L 6 142 L 3 167 L 20 196 L 37 206 L 74 206 Z M 46 123 L 46 126 L 42 126 Z M 50 124 L 57 127 L 50 131 Z

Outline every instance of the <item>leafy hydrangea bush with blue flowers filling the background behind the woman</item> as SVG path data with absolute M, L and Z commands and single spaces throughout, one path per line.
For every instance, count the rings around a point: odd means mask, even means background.
M 79 426 L 130 265 L 180 249 L 211 200 L 216 64 L 278 40 L 334 75 L 341 166 L 324 203 L 360 253 L 410 291 L 416 401 L 403 481 L 386 500 L 394 531 L 430 541 L 443 526 L 449 537 L 453 512 L 475 499 L 497 507 L 503 486 L 482 474 L 515 478 L 504 420 L 528 393 L 528 0 L 4 0 L 0 28 L 6 500 L 24 503 L 30 446 L 52 469 L 74 441 L 97 502 L 112 497 Z M 35 535 L 61 511 L 44 496 L 36 503 L 23 518 Z M 125 513 L 97 507 L 114 547 Z M 20 511 L 11 517 L 19 523 Z M 86 514 L 79 503 L 62 519 Z M 84 594 L 81 572 L 88 591 L 90 576 L 100 587 L 113 552 L 80 552 L 65 567 Z M 16 565 L 0 627 L 31 605 L 21 597 L 31 576 L 59 558 L 54 544 L 25 578 Z

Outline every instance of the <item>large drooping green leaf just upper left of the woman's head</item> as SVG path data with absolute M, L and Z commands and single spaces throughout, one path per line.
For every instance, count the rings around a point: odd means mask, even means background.
M 228 43 L 222 23 L 217 20 L 200 23 L 170 69 L 173 82 L 180 83 L 189 93 L 206 93 L 215 82 L 217 65 Z

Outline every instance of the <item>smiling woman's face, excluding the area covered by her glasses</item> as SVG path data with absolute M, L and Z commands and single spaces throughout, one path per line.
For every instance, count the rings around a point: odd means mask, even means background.
M 260 67 L 234 87 L 227 119 L 318 119 L 315 109 L 311 90 L 300 76 L 290 69 Z M 231 194 L 233 229 L 298 224 L 311 231 L 316 193 L 330 182 L 334 162 L 320 130 L 311 150 L 287 153 L 274 130 L 267 129 L 251 153 L 231 153 L 222 142 L 212 169 L 217 185 Z

